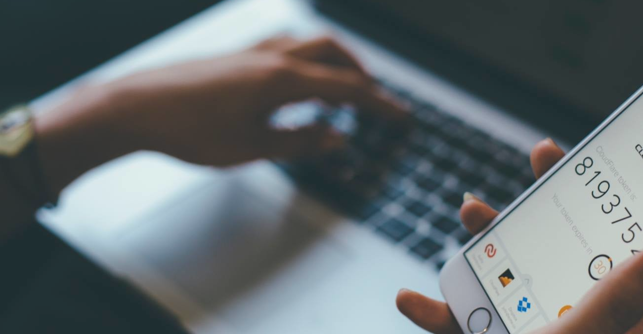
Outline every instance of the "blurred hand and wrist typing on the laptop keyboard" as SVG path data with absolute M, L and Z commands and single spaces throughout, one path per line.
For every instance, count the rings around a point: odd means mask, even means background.
M 210 166 L 319 154 L 341 146 L 342 138 L 322 125 L 275 130 L 268 124 L 281 105 L 312 98 L 403 117 L 334 40 L 282 37 L 84 89 L 36 119 L 37 142 L 54 191 L 135 150 Z

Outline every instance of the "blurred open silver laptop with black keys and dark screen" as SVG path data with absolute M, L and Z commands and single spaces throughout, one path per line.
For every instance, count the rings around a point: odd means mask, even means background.
M 573 144 L 640 85 L 628 6 L 226 0 L 33 107 L 276 34 L 332 33 L 410 105 L 412 129 L 298 104 L 276 122 L 329 122 L 347 149 L 225 170 L 138 152 L 80 177 L 39 219 L 192 333 L 423 333 L 395 295 L 440 299 L 440 268 L 471 238 L 464 191 L 507 206 L 534 182 L 532 145 Z

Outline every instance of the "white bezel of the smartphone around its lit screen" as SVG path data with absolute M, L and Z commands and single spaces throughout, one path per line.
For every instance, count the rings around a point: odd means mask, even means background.
M 610 123 L 616 119 L 622 112 L 636 101 L 641 94 L 643 94 L 643 87 L 640 87 L 634 94 L 632 94 L 626 101 L 624 101 L 614 112 L 608 116 L 601 125 L 595 128 L 588 136 L 574 146 L 570 152 L 568 152 L 563 159 L 556 163 L 552 168 L 550 168 L 545 175 L 540 177 L 532 186 L 530 186 L 520 197 L 516 198 L 506 209 L 504 209 L 496 218 L 489 224 L 487 228 L 484 229 L 481 233 L 478 233 L 473 239 L 469 240 L 460 249 L 458 254 L 449 261 L 442 268 L 440 272 L 440 290 L 444 299 L 449 304 L 451 312 L 455 316 L 460 328 L 464 333 L 469 333 L 467 329 L 467 321 L 469 319 L 469 314 L 473 312 L 476 308 L 484 307 L 491 312 L 491 324 L 489 330 L 485 334 L 509 334 L 507 328 L 505 328 L 503 322 L 496 312 L 491 300 L 485 293 L 480 281 L 475 276 L 471 266 L 464 257 L 464 252 L 466 252 L 471 246 L 473 246 L 480 238 L 484 237 L 493 227 L 502 222 L 505 216 L 509 215 L 516 207 L 527 199 L 534 191 L 536 191 L 542 184 L 547 182 L 547 180 L 554 175 L 565 163 L 572 159 L 584 146 L 586 146 L 594 137 L 602 132 Z

